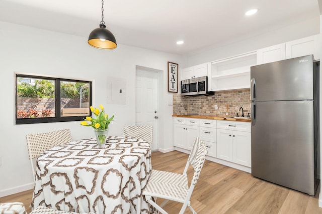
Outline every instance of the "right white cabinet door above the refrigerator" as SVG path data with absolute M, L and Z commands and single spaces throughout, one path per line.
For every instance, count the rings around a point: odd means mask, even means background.
M 315 60 L 320 59 L 319 35 L 305 37 L 286 43 L 286 59 L 313 54 Z

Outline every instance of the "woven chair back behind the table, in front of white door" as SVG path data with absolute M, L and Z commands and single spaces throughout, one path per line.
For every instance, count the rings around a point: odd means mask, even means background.
M 152 145 L 152 126 L 124 126 L 123 135 L 127 137 L 137 137 Z

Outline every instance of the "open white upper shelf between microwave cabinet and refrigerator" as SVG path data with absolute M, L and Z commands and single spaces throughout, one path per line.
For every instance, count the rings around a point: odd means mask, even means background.
M 210 91 L 250 88 L 251 66 L 256 64 L 256 52 L 211 62 Z

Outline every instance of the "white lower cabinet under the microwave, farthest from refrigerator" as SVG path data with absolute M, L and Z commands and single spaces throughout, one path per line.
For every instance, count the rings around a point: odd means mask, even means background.
M 199 124 L 200 119 L 174 118 L 174 146 L 191 150 L 196 137 L 200 136 Z

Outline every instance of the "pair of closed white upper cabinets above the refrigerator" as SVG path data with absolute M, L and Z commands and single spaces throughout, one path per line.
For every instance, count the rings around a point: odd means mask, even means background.
M 257 64 L 275 62 L 313 54 L 315 60 L 320 59 L 319 35 L 274 45 L 257 50 Z

